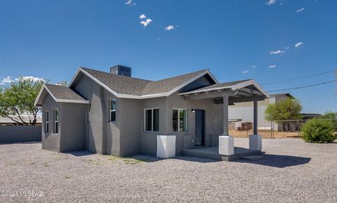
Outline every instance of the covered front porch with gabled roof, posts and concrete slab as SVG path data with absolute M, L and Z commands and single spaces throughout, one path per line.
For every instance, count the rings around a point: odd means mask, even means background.
M 253 79 L 214 84 L 194 91 L 180 93 L 185 100 L 212 99 L 215 105 L 223 105 L 223 133 L 218 136 L 218 147 L 183 150 L 183 155 L 222 161 L 232 161 L 249 155 L 261 155 L 262 136 L 258 135 L 258 101 L 269 98 Z M 228 106 L 234 103 L 253 103 L 253 135 L 249 136 L 249 148 L 234 147 L 234 137 L 228 132 Z

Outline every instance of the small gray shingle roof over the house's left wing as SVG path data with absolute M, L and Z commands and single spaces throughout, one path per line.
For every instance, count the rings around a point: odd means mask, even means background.
M 55 84 L 45 84 L 48 91 L 55 97 L 55 99 L 62 100 L 86 100 L 79 96 L 76 92 L 67 86 L 60 86 Z

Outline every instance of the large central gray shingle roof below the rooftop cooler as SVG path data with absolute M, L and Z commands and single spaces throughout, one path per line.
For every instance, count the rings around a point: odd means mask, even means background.
M 177 86 L 184 84 L 193 77 L 196 77 L 198 74 L 206 71 L 199 70 L 197 72 L 191 72 L 179 75 L 177 77 L 170 77 L 168 79 L 161 79 L 159 81 L 150 81 L 118 74 L 111 74 L 109 72 L 92 70 L 86 67 L 81 67 L 81 69 L 90 74 L 95 79 L 98 79 L 116 93 L 136 96 L 144 96 L 154 93 L 166 93 L 172 89 L 175 89 Z

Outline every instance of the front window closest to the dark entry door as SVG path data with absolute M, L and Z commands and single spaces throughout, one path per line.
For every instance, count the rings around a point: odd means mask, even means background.
M 173 132 L 186 132 L 187 131 L 187 110 L 173 109 L 172 127 L 173 127 Z

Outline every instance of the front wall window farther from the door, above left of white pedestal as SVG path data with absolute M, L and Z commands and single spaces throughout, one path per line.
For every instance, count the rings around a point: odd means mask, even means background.
M 159 108 L 145 109 L 144 118 L 145 131 L 159 131 Z

